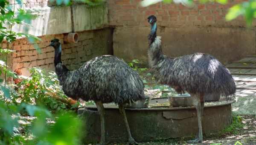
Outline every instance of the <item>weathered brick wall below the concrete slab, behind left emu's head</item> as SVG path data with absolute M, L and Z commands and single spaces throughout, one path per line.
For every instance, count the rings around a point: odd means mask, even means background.
M 64 42 L 64 34 L 42 36 L 40 37 L 42 41 L 36 42 L 41 48 L 41 54 L 35 49 L 34 44 L 30 44 L 26 38 L 18 39 L 10 44 L 10 49 L 16 52 L 9 59 L 9 64 L 12 70 L 21 70 L 22 75 L 29 75 L 28 68 L 32 67 L 54 70 L 54 48 L 48 45 L 53 38 L 58 38 L 62 44 L 61 60 L 68 69 L 77 69 L 93 57 L 112 53 L 111 33 L 111 29 L 79 32 L 78 43 Z M 1 45 L 6 48 L 6 43 Z

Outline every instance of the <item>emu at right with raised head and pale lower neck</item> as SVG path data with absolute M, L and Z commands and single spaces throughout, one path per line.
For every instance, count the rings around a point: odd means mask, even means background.
M 236 93 L 236 85 L 229 70 L 212 55 L 195 53 L 177 58 L 169 58 L 163 54 L 161 40 L 157 36 L 157 18 L 148 17 L 151 32 L 148 35 L 149 65 L 157 72 L 162 84 L 173 87 L 178 93 L 187 91 L 197 110 L 198 135 L 189 142 L 202 142 L 201 117 L 204 110 L 204 95 L 220 93 L 230 96 Z

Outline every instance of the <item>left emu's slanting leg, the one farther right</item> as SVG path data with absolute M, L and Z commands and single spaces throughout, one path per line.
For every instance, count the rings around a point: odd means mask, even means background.
M 138 143 L 135 141 L 135 139 L 131 136 L 131 131 L 130 131 L 130 127 L 126 118 L 126 113 L 125 113 L 125 107 L 123 104 L 119 104 L 118 105 L 119 108 L 119 112 L 121 113 L 121 115 L 123 116 L 123 119 L 125 121 L 125 126 L 127 129 L 127 133 L 128 133 L 128 137 L 129 137 L 129 145 L 138 145 Z

